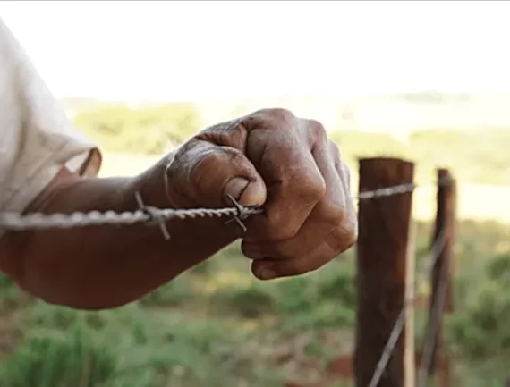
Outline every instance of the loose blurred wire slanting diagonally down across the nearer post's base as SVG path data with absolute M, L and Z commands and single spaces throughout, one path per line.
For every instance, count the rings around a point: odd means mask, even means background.
M 445 248 L 445 244 L 446 244 L 446 231 L 442 230 L 438 235 L 438 239 L 434 242 L 434 245 L 430 250 L 429 258 L 425 260 L 424 264 L 421 266 L 419 270 L 420 280 L 429 277 L 432 267 L 438 261 L 439 255 L 443 251 L 443 248 Z M 412 306 L 416 301 L 416 298 L 418 297 L 418 283 L 419 281 L 417 279 L 414 282 L 414 291 L 412 292 L 412 297 L 404 300 L 404 307 L 402 308 L 400 314 L 396 319 L 395 326 L 393 327 L 393 330 L 389 335 L 386 346 L 383 349 L 381 357 L 379 358 L 378 365 L 376 366 L 374 374 L 370 379 L 368 387 L 377 387 L 382 375 L 384 374 L 387 362 L 389 361 L 389 358 L 391 358 L 396 343 L 398 342 L 398 339 L 400 338 L 400 335 L 404 330 L 405 313 L 407 312 L 407 307 Z

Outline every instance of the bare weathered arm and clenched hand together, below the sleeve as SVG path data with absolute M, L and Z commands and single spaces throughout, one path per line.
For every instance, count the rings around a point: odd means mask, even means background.
M 95 226 L 23 231 L 0 240 L 0 269 L 49 303 L 119 307 L 204 261 L 237 238 L 259 279 L 316 270 L 353 246 L 357 220 L 349 171 L 319 122 L 265 109 L 202 130 L 148 171 L 128 178 L 81 178 L 63 170 L 28 212 L 150 206 L 262 206 L 240 233 L 217 219 L 157 227 Z

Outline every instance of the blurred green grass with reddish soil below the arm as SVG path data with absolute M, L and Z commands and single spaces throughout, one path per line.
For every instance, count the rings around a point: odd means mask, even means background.
M 429 224 L 419 223 L 420 255 L 429 232 Z M 456 385 L 489 385 L 506 376 L 506 240 L 507 227 L 498 223 L 459 226 L 455 314 L 446 326 Z M 234 244 L 145 299 L 98 313 L 33 303 L 3 280 L 0 287 L 10 299 L 4 318 L 15 311 L 11 336 L 22 339 L 4 354 L 1 385 L 278 387 L 300 371 L 304 380 L 300 358 L 313 358 L 325 369 L 353 349 L 353 259 L 350 251 L 316 273 L 259 282 Z M 276 366 L 289 354 L 292 361 Z

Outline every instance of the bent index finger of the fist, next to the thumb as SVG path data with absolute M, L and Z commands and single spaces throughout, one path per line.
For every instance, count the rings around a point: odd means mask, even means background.
M 287 121 L 294 119 L 293 115 L 285 117 Z M 272 127 L 270 125 L 274 124 L 268 120 L 257 121 L 256 114 L 243 125 L 249 133 L 247 156 L 255 164 L 268 189 L 264 214 L 248 219 L 249 232 L 245 239 L 293 238 L 326 191 L 325 181 L 311 155 L 309 144 L 306 138 L 296 136 L 292 131 L 296 129 L 292 125 Z M 291 129 L 285 129 L 287 126 Z M 251 229 L 258 233 L 251 234 Z

